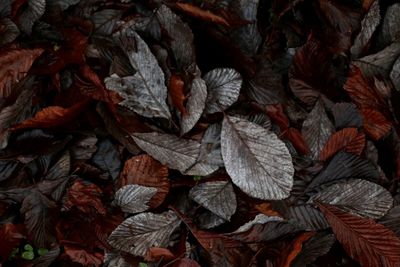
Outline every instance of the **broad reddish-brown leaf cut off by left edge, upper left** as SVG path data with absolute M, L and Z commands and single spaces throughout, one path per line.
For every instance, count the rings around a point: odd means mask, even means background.
M 12 49 L 0 54 L 0 98 L 11 94 L 12 85 L 27 75 L 33 62 L 43 51 L 42 48 Z

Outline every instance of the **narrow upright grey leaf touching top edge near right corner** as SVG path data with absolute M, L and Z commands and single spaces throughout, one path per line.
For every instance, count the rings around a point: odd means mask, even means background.
M 350 51 L 354 58 L 358 58 L 368 48 L 372 35 L 381 20 L 379 1 L 374 1 L 361 21 L 361 31 L 354 40 Z

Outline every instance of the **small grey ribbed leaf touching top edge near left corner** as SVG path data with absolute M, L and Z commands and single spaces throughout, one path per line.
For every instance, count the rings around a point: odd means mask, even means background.
M 46 0 L 28 0 L 28 5 L 19 17 L 19 28 L 30 35 L 32 27 L 46 11 Z

